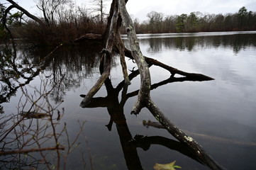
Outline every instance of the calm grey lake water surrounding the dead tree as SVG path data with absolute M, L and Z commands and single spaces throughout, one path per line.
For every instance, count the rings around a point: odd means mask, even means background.
M 152 84 L 157 86 L 151 96 L 161 111 L 227 169 L 255 169 L 256 31 L 138 35 L 138 38 L 143 55 L 184 72 L 215 79 L 168 83 L 165 80 L 169 79 L 169 72 L 150 67 Z M 49 103 L 57 106 L 63 101 L 58 107 L 62 118 L 56 126 L 57 132 L 66 123 L 72 141 L 79 132 L 79 123 L 86 121 L 77 140 L 79 145 L 67 156 L 67 169 L 153 169 L 155 163 L 174 160 L 182 169 L 208 169 L 186 156 L 188 152 L 166 130 L 144 127 L 143 120 L 155 121 L 147 109 L 137 117 L 130 115 L 136 100 L 133 92 L 139 89 L 140 77 L 136 75 L 128 90 L 124 90 L 118 57 L 112 63 L 110 79 L 88 108 L 80 108 L 79 95 L 87 94 L 100 76 L 97 54 L 101 47 L 61 47 L 47 61 L 43 58 L 51 50 L 25 49 L 18 47 L 16 57 L 12 57 L 21 67 L 15 69 L 7 62 L 1 67 L 1 75 L 8 72 L 10 82 L 1 78 L 0 105 L 4 112 L 1 115 L 21 111 L 17 111 L 21 107 L 19 101 L 26 99 L 18 84 L 26 84 L 23 89 L 30 96 L 36 94 L 35 89 L 42 89 L 42 81 L 46 89 L 54 87 Z M 136 70 L 131 60 L 126 61 L 129 70 Z M 42 71 L 36 72 L 39 66 Z M 28 104 L 24 110 L 27 108 Z M 46 144 L 52 146 L 50 142 Z M 60 137 L 60 144 L 67 146 L 65 135 Z M 31 157 L 40 159 L 38 154 Z M 0 164 L 11 160 L 1 159 Z

